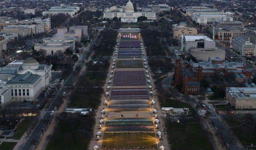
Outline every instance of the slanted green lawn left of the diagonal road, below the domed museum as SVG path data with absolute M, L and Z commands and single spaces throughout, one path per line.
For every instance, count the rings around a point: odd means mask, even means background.
M 6 138 L 10 139 L 20 139 L 22 135 L 26 132 L 28 129 L 28 126 L 31 124 L 32 119 L 24 119 L 22 122 L 16 127 L 14 131 L 14 135 Z

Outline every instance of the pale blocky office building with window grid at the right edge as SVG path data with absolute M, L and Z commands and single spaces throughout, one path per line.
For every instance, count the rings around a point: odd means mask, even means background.
M 256 45 L 250 41 L 250 37 L 239 35 L 232 39 L 232 48 L 241 55 L 255 55 Z

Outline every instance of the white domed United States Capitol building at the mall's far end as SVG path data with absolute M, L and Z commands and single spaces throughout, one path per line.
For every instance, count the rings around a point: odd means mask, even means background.
M 130 0 L 127 2 L 125 9 L 112 6 L 106 9 L 103 14 L 103 18 L 113 19 L 117 17 L 121 18 L 121 22 L 124 23 L 136 23 L 140 16 L 145 16 L 148 20 L 157 19 L 155 12 L 134 12 L 133 4 Z

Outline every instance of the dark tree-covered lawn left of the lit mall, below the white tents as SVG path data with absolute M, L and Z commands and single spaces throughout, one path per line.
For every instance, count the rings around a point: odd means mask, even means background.
M 94 116 L 62 117 L 45 150 L 87 150 L 93 135 L 91 129 L 94 124 Z

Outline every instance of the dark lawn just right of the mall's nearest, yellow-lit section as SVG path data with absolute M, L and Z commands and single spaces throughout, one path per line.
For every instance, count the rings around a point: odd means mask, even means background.
M 172 150 L 213 150 L 207 133 L 202 131 L 199 120 L 183 119 L 180 123 L 166 120 L 167 135 Z

